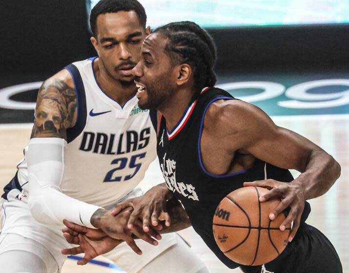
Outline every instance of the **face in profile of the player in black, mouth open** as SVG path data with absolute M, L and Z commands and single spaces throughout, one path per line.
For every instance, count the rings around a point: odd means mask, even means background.
M 167 39 L 160 33 L 149 35 L 141 48 L 141 59 L 133 69 L 138 105 L 142 109 L 161 109 L 173 94 L 176 77 L 164 48 Z

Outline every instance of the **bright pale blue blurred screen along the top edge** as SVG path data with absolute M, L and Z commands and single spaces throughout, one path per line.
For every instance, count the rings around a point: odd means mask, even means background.
M 349 0 L 139 0 L 152 28 L 191 20 L 202 27 L 349 23 Z M 90 9 L 98 0 L 88 0 Z

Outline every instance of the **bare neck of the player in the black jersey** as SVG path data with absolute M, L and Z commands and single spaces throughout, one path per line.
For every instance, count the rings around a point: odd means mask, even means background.
M 179 122 L 194 94 L 195 90 L 178 90 L 161 109 L 158 109 L 164 115 L 169 131 L 172 131 L 173 127 Z

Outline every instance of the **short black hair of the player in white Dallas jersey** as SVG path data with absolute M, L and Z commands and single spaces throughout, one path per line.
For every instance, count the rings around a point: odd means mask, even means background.
M 140 24 L 145 28 L 146 14 L 144 7 L 137 0 L 101 0 L 91 10 L 90 27 L 93 36 L 97 35 L 97 17 L 100 14 L 116 13 L 118 11 L 135 11 L 138 15 Z

